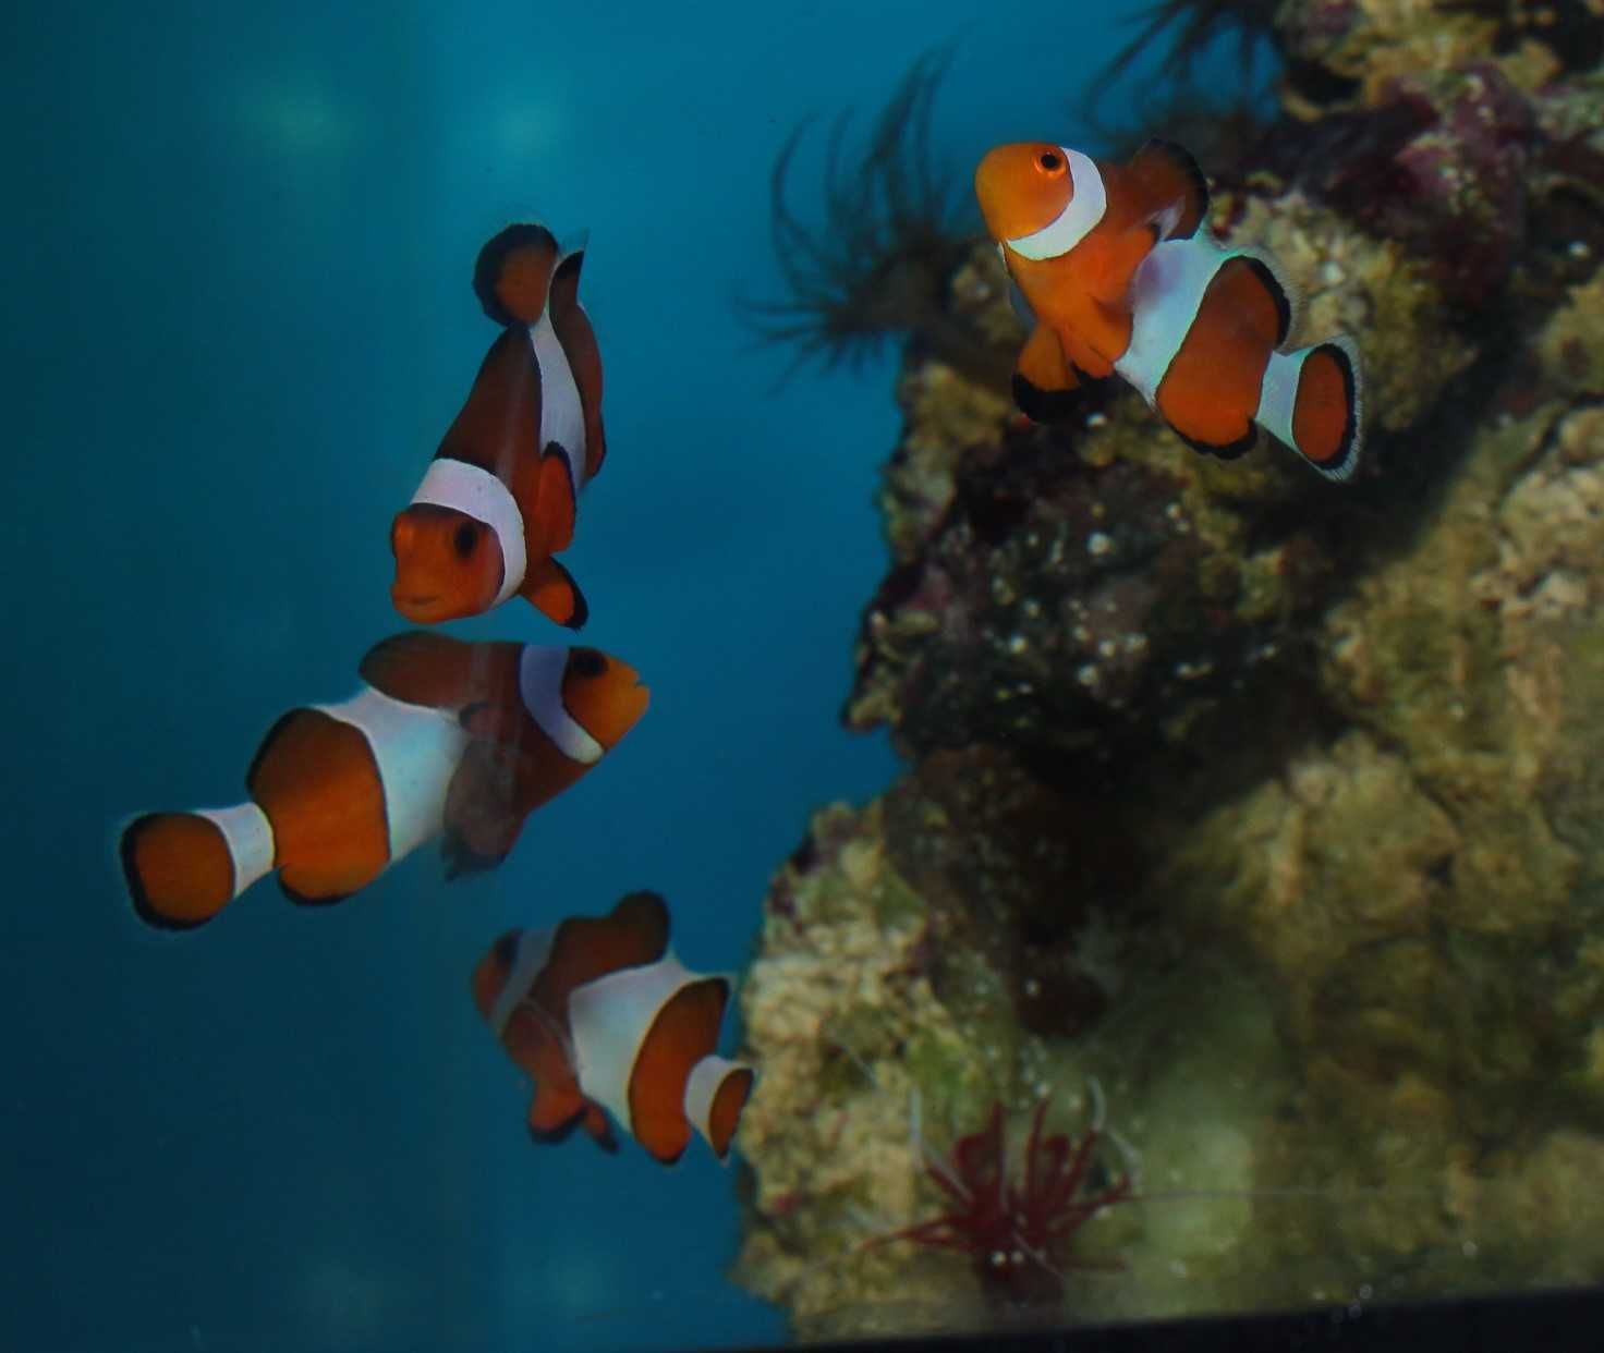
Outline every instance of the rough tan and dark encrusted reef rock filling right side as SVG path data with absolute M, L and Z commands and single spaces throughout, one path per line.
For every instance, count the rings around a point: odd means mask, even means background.
M 1546 16 L 1546 18 L 1545 18 Z M 908 345 L 849 726 L 749 979 L 736 1276 L 802 1335 L 994 1323 L 932 1181 L 1097 1130 L 1033 1318 L 1604 1279 L 1604 18 L 1283 0 L 1211 164 L 1367 369 L 1331 487 L 1129 390 L 1012 410 L 994 255 Z M 1043 1108 L 1046 1106 L 1046 1108 Z

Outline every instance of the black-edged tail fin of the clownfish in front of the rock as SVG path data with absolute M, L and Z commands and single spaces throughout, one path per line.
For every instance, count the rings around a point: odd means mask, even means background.
M 1352 476 L 1362 412 L 1359 345 L 1347 335 L 1270 354 L 1254 418 L 1327 479 Z

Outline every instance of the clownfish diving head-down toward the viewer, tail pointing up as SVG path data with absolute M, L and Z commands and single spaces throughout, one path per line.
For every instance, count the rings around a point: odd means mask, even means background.
M 579 303 L 584 245 L 508 226 L 480 250 L 473 290 L 504 325 L 409 507 L 390 526 L 390 598 L 422 625 L 523 596 L 577 630 L 589 614 L 552 556 L 574 539 L 606 457 L 602 354 Z

